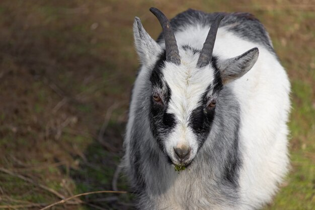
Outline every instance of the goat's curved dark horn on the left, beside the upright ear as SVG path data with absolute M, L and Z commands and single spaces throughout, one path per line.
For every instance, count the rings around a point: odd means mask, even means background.
M 151 13 L 155 15 L 157 20 L 159 20 L 162 28 L 163 28 L 163 36 L 165 40 L 165 51 L 166 51 L 166 60 L 180 64 L 181 59 L 178 52 L 178 47 L 176 43 L 176 39 L 174 36 L 174 32 L 172 29 L 172 26 L 170 24 L 170 21 L 167 19 L 167 17 L 158 9 L 156 8 L 150 8 Z

